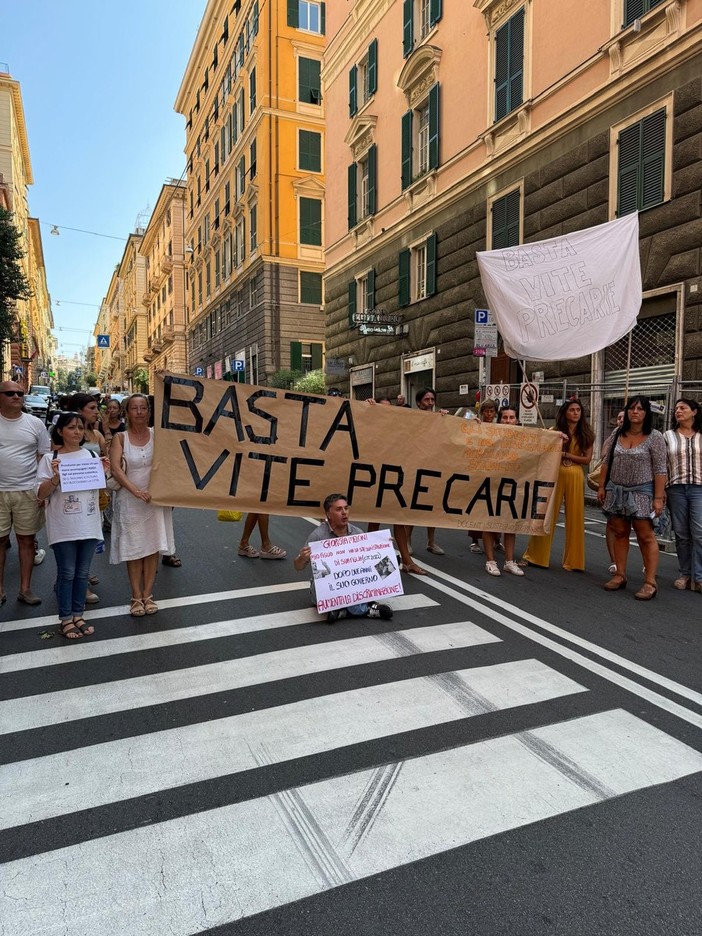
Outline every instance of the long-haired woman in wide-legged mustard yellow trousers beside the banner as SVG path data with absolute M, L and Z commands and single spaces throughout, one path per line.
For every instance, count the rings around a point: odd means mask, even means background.
M 585 476 L 583 467 L 592 460 L 595 434 L 577 400 L 567 400 L 558 411 L 555 428 L 563 435 L 563 455 L 558 472 L 553 522 L 546 536 L 531 536 L 524 559 L 529 565 L 548 569 L 556 522 L 565 499 L 565 546 L 563 568 L 585 570 Z

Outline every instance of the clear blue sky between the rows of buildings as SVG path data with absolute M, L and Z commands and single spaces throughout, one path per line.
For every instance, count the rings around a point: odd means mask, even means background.
M 173 104 L 206 0 L 1 6 L 0 62 L 21 84 L 27 121 L 29 210 L 42 222 L 59 350 L 73 354 L 93 342 L 124 241 L 67 230 L 52 237 L 50 226 L 126 240 L 165 179 L 181 176 L 185 121 Z

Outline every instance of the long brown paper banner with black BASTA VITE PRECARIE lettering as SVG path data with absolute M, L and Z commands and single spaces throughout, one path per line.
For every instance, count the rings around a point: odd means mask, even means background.
M 159 504 L 543 533 L 561 437 L 417 410 L 163 374 L 151 495 Z

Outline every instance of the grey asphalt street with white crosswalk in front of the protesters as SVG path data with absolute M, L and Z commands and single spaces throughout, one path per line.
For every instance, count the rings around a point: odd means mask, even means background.
M 702 596 L 588 572 L 484 572 L 465 534 L 416 557 L 392 621 L 320 623 L 241 524 L 175 514 L 153 618 L 97 556 L 95 638 L 0 610 L 0 932 L 702 933 Z M 257 534 L 254 534 L 254 545 Z M 518 545 L 522 540 L 518 541 Z M 44 638 L 42 639 L 42 634 Z

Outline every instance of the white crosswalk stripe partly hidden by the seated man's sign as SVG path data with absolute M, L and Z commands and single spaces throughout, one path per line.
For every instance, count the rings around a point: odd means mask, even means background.
M 438 602 L 427 595 L 401 595 L 392 600 L 392 607 L 395 611 L 414 611 L 418 608 L 437 607 L 437 605 Z M 214 621 L 211 624 L 195 624 L 192 627 L 169 628 L 163 631 L 145 630 L 135 637 L 72 641 L 59 647 L 28 650 L 26 653 L 12 653 L 0 657 L 0 674 L 36 669 L 40 666 L 94 660 L 114 656 L 116 653 L 135 653 L 141 650 L 182 646 L 185 643 L 216 640 L 220 637 L 232 637 L 253 631 L 277 630 L 297 624 L 313 624 L 319 620 L 320 616 L 316 610 L 310 607 L 286 611 L 284 614 L 280 611 L 273 614 L 254 614 L 233 620 Z

